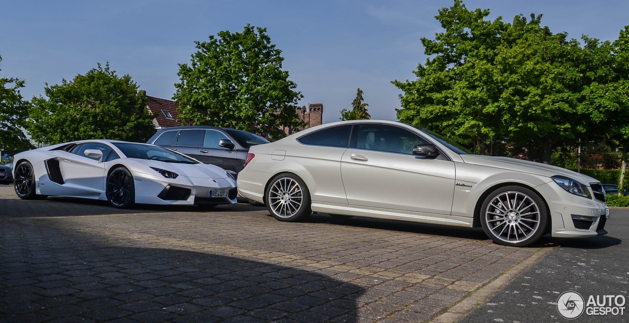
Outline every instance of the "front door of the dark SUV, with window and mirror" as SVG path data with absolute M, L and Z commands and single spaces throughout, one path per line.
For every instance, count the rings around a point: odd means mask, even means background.
M 229 140 L 221 131 L 215 129 L 205 130 L 203 136 L 203 143 L 198 148 L 196 155 L 199 162 L 216 165 L 224 168 L 225 170 L 231 170 L 232 172 L 238 172 L 238 150 L 221 147 L 218 145 L 220 140 Z M 234 143 L 235 145 L 235 143 Z

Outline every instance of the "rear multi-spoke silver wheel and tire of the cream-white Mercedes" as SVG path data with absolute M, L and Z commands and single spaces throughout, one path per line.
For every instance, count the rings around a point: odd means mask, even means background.
M 279 221 L 304 221 L 312 213 L 306 183 L 291 173 L 279 174 L 270 181 L 264 202 L 271 216 Z

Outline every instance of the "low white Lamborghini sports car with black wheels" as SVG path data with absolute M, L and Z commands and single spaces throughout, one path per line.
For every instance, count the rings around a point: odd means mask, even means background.
M 223 168 L 143 143 L 74 141 L 18 153 L 14 160 L 14 187 L 21 199 L 82 197 L 128 208 L 234 204 L 238 194 L 235 179 Z

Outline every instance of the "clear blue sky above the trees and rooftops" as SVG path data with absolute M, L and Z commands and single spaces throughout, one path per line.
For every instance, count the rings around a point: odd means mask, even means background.
M 542 24 L 571 38 L 615 40 L 629 25 L 629 1 L 464 1 L 490 9 L 491 19 L 543 14 Z M 301 105 L 322 102 L 324 122 L 337 121 L 364 90 L 373 119 L 395 120 L 400 91 L 391 80 L 414 79 L 426 60 L 420 38 L 441 30 L 434 18 L 452 1 L 3 1 L 2 77 L 26 80 L 26 99 L 109 61 L 150 96 L 170 99 L 177 63 L 194 41 L 218 31 L 267 28 L 282 50 L 284 70 L 298 84 Z

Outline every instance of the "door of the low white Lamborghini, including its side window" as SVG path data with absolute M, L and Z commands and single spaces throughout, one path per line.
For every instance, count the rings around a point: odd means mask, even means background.
M 73 196 L 97 197 L 105 189 L 105 165 L 98 158 L 85 155 L 86 150 L 100 150 L 103 160 L 109 158 L 112 150 L 101 143 L 82 143 L 70 152 L 59 154 L 59 169 L 63 178 L 63 186 L 73 192 Z

